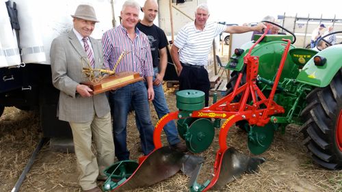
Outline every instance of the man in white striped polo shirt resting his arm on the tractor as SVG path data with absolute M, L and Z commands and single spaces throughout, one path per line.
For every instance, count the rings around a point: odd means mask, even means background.
M 210 81 L 205 69 L 208 55 L 215 36 L 222 32 L 245 33 L 262 31 L 266 28 L 260 23 L 254 27 L 226 26 L 217 23 L 207 23 L 209 8 L 200 4 L 196 8 L 195 22 L 188 23 L 177 34 L 171 48 L 171 56 L 178 69 L 179 90 L 200 90 L 205 92 L 205 106 L 209 102 Z

